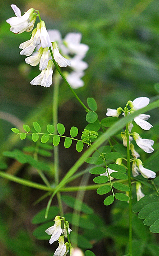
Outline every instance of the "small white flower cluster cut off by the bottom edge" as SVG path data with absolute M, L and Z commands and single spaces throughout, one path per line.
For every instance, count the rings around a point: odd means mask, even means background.
M 67 226 L 66 226 L 67 225 Z M 56 216 L 55 217 L 55 224 L 51 227 L 49 227 L 48 229 L 45 230 L 45 232 L 48 235 L 51 235 L 51 238 L 49 240 L 49 243 L 52 244 L 55 241 L 59 241 L 59 246 L 57 247 L 55 253 L 53 256 L 66 256 L 67 253 L 69 252 L 69 244 L 64 240 L 64 237 L 67 237 L 67 229 L 68 229 L 68 233 L 71 233 L 71 229 L 69 228 L 69 223 L 68 221 L 65 222 L 64 224 L 64 229 L 61 228 L 61 217 L 60 216 Z M 63 234 L 61 236 L 61 234 Z M 70 255 L 71 251 L 73 251 L 73 247 L 70 248 Z

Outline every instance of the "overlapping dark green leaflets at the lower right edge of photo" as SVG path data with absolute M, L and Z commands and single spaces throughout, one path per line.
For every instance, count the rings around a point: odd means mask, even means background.
M 152 233 L 159 233 L 159 199 L 156 195 L 146 195 L 132 208 L 133 212 L 139 212 L 138 217 L 144 220 L 144 225 L 150 226 Z

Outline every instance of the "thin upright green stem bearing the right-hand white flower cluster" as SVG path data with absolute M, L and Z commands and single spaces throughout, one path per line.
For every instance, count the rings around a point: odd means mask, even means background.
M 126 116 L 128 109 L 126 107 Z M 130 167 L 130 146 L 129 146 L 129 130 L 128 123 L 126 124 L 126 140 L 127 140 L 127 175 L 128 175 L 128 186 L 130 187 L 129 191 L 129 254 L 132 255 L 132 187 L 131 187 L 131 167 Z

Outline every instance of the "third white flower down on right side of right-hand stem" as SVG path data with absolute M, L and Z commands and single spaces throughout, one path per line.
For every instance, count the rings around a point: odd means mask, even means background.
M 144 150 L 146 153 L 152 153 L 154 151 L 152 147 L 154 144 L 154 140 L 141 139 L 140 135 L 137 133 L 133 133 L 132 135 L 136 141 L 137 146 L 139 146 L 139 148 Z

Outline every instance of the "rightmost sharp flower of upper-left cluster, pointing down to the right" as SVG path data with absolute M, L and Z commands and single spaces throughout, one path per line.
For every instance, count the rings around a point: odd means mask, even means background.
M 59 49 L 57 47 L 56 42 L 53 42 L 53 57 L 55 59 L 55 61 L 58 63 L 58 65 L 62 68 L 62 67 L 66 67 L 66 66 L 70 66 L 71 61 L 67 60 L 66 58 L 64 58 L 60 52 Z

